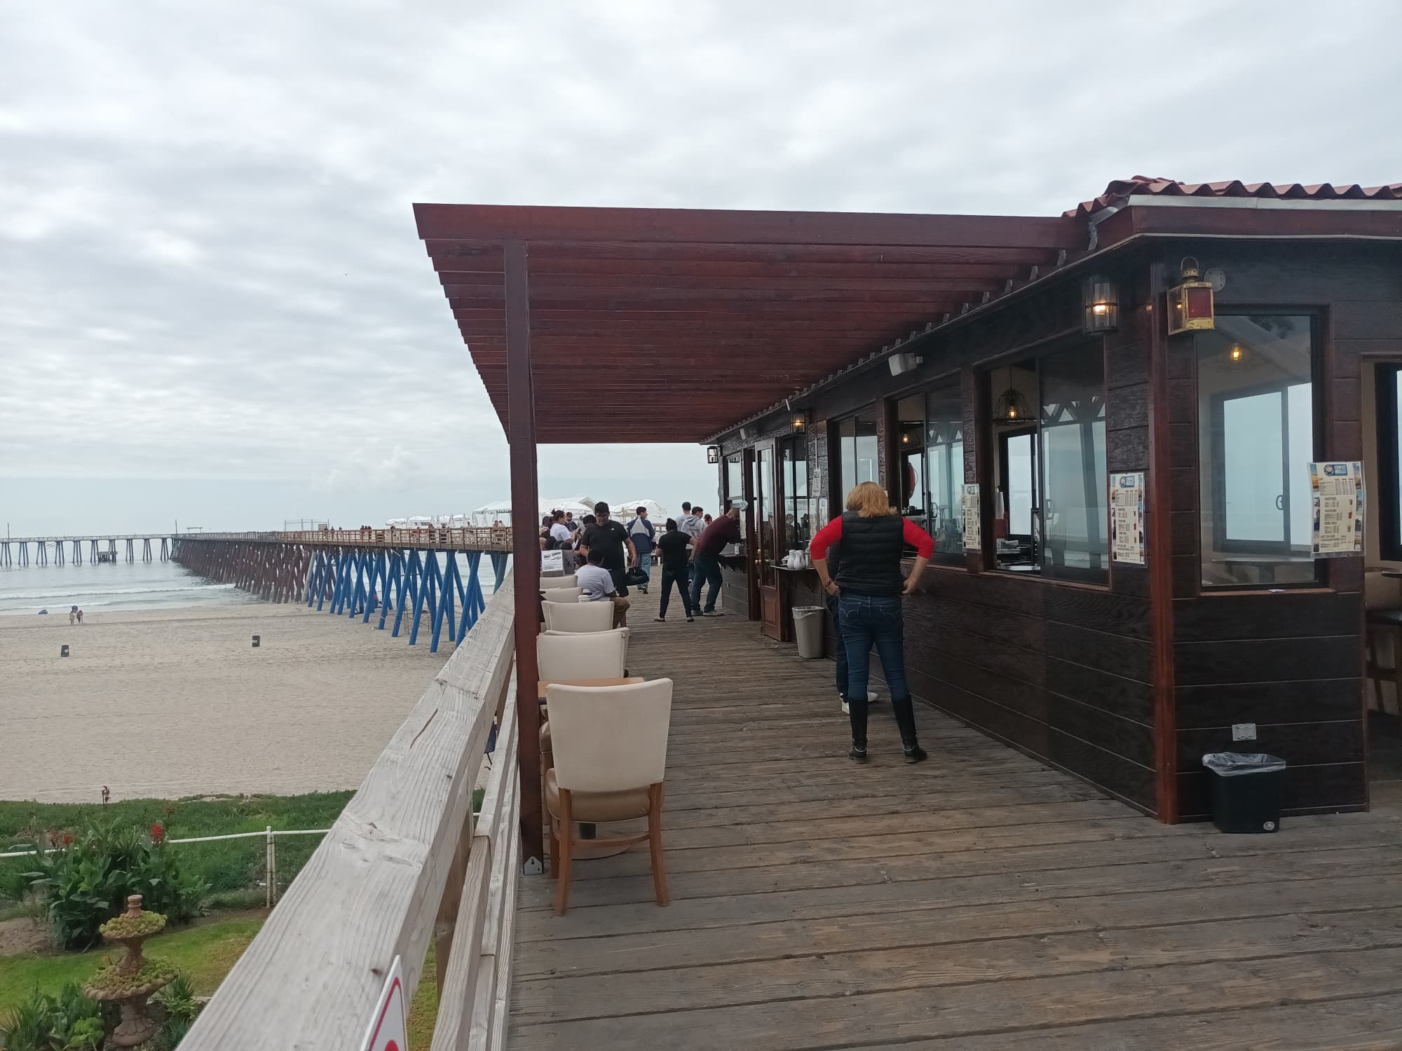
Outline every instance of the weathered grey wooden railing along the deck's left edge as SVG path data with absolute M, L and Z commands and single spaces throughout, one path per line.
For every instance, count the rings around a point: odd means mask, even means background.
M 433 1051 L 499 1048 L 520 872 L 513 586 L 400 726 L 182 1051 L 358 1051 L 394 959 L 437 947 Z M 499 731 L 481 814 L 472 790 Z

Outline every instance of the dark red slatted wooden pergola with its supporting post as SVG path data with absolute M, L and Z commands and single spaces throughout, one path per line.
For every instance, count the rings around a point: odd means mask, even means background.
M 1075 216 L 415 205 L 536 507 L 538 443 L 702 441 L 1085 248 Z M 606 411 L 600 411 L 604 406 Z M 515 516 L 516 677 L 536 688 L 538 544 Z M 540 858 L 538 709 L 520 695 L 522 834 Z

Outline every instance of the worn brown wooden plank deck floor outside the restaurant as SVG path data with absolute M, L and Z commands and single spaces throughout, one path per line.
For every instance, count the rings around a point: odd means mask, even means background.
M 906 767 L 886 705 L 857 767 L 829 661 L 639 605 L 673 902 L 645 849 L 523 880 L 516 1051 L 1402 1047 L 1394 809 L 1169 828 L 928 709 Z

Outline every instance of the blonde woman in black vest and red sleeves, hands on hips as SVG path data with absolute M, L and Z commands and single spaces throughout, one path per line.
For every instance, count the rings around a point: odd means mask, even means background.
M 916 565 L 903 580 L 900 559 L 906 544 L 916 548 Z M 834 545 L 840 555 L 836 579 L 827 566 L 827 552 Z M 862 482 L 847 493 L 847 510 L 817 531 L 809 551 L 823 590 L 837 596 L 847 650 L 847 717 L 852 729 L 848 758 L 866 762 L 866 685 L 875 643 L 906 762 L 923 761 L 927 754 L 916 736 L 916 708 L 906 682 L 900 598 L 916 593 L 920 575 L 935 554 L 935 538 L 901 517 L 876 482 Z

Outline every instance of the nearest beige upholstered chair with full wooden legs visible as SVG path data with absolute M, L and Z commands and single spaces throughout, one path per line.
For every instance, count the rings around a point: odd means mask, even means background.
M 662 782 L 672 726 L 672 680 L 628 687 L 548 687 L 555 727 L 555 768 L 545 774 L 550 811 L 550 872 L 559 886 L 555 912 L 569 905 L 569 869 L 575 823 L 608 824 L 646 817 L 635 835 L 593 839 L 590 845 L 634 845 L 652 852 L 652 886 L 666 905 L 667 873 L 662 858 Z

